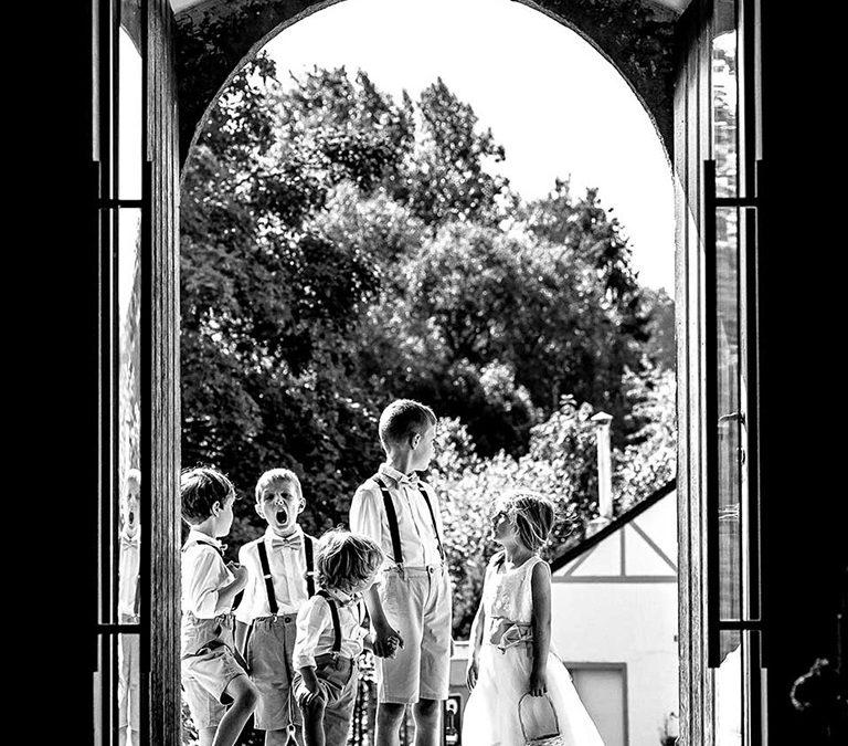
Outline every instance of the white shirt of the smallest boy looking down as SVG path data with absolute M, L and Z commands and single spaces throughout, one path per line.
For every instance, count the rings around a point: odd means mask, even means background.
M 341 628 L 342 658 L 356 660 L 362 652 L 363 640 L 368 632 L 360 624 L 359 598 L 351 597 L 339 590 L 331 590 L 339 610 L 339 627 Z M 292 650 L 292 664 L 295 669 L 315 665 L 316 655 L 332 652 L 336 631 L 332 628 L 332 612 L 324 596 L 315 595 L 300 607 L 297 612 L 297 637 Z

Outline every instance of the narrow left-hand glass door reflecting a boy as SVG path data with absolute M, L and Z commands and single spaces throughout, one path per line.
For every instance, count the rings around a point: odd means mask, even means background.
M 146 743 L 139 658 L 148 621 L 141 603 L 141 224 L 144 3 L 100 0 L 96 116 L 102 280 L 99 629 L 95 743 Z

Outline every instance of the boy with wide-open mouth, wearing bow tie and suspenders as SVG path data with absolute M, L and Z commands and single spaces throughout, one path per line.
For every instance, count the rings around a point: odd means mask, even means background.
M 259 692 L 253 725 L 265 731 L 265 746 L 284 746 L 289 733 L 303 743 L 292 689 L 292 651 L 297 612 L 315 593 L 314 539 L 297 523 L 305 505 L 294 472 L 265 472 L 256 482 L 255 507 L 268 526 L 239 550 L 247 585 L 235 613 L 235 643 Z

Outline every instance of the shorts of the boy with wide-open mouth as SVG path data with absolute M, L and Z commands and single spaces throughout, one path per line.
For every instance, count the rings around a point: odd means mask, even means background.
M 254 619 L 244 650 L 247 672 L 259 692 L 253 714 L 258 731 L 283 731 L 289 723 L 300 727 L 300 708 L 294 698 L 292 650 L 297 635 L 297 614 Z

